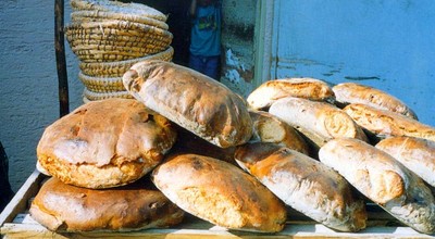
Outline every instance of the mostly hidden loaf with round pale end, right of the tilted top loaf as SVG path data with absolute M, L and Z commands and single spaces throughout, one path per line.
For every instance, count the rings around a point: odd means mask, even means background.
M 287 123 L 264 111 L 251 110 L 249 115 L 253 125 L 250 141 L 274 142 L 304 154 L 309 153 L 307 142 Z

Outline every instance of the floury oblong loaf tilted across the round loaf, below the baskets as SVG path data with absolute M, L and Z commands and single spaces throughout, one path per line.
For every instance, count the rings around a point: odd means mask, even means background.
M 123 81 L 147 108 L 219 147 L 243 144 L 251 137 L 252 122 L 244 99 L 196 71 L 144 61 L 133 65 Z

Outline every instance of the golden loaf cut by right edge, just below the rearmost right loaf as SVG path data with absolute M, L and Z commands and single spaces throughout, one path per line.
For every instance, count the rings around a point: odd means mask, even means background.
M 357 124 L 380 138 L 409 136 L 435 141 L 435 128 L 390 111 L 352 103 L 343 109 Z

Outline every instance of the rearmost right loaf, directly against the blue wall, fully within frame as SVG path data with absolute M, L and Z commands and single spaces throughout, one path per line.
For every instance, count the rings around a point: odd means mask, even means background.
M 344 105 L 361 103 L 391 111 L 417 120 L 415 113 L 399 99 L 380 89 L 356 83 L 341 83 L 333 87 L 335 100 Z

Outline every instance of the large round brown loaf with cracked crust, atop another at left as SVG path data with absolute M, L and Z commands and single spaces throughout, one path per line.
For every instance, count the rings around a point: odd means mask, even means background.
M 109 188 L 150 172 L 175 139 L 165 117 L 137 100 L 113 98 L 84 104 L 48 126 L 37 156 L 65 184 Z

